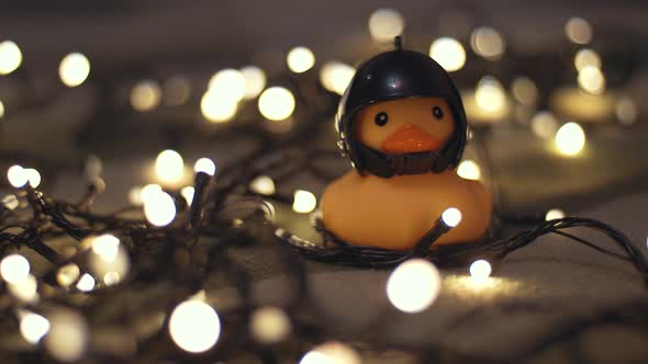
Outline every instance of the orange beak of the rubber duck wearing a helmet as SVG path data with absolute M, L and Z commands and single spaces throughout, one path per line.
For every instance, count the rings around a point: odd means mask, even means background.
M 439 139 L 412 124 L 401 126 L 382 141 L 382 150 L 388 153 L 435 151 L 440 147 Z

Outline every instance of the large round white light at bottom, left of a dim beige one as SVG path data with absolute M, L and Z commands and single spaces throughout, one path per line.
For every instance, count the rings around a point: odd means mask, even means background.
M 216 311 L 200 300 L 186 300 L 174 309 L 169 319 L 174 342 L 190 353 L 201 353 L 216 344 L 221 320 Z

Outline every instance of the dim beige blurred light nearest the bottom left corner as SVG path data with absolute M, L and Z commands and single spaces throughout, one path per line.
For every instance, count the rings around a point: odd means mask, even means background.
M 88 326 L 75 311 L 59 310 L 49 317 L 52 328 L 45 337 L 45 349 L 56 360 L 75 362 L 81 359 L 89 341 Z

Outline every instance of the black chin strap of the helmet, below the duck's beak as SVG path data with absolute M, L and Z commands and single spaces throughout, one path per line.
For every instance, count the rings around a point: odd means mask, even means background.
M 439 173 L 448 168 L 448 159 L 438 151 L 388 155 L 358 143 L 361 169 L 381 177 Z

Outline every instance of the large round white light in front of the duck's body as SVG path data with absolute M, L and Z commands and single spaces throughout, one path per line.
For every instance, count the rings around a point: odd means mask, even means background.
M 438 297 L 440 273 L 429 261 L 411 259 L 401 263 L 387 281 L 387 297 L 399 310 L 407 314 L 423 311 Z

